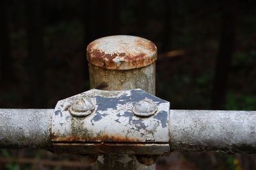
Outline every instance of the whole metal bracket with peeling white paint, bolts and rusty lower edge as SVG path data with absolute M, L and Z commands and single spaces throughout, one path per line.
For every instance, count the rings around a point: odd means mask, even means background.
M 110 151 L 118 154 L 168 153 L 169 110 L 169 102 L 141 89 L 91 89 L 60 100 L 52 116 L 54 151 L 77 155 Z

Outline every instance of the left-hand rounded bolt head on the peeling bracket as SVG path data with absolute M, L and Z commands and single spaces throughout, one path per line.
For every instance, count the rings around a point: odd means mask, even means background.
M 91 114 L 93 109 L 94 105 L 92 104 L 92 102 L 90 102 L 86 98 L 81 98 L 76 100 L 76 102 L 72 104 L 72 107 L 69 107 L 68 111 L 73 116 L 82 117 Z

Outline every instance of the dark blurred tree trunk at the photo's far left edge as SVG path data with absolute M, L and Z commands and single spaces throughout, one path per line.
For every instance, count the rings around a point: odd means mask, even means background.
M 3 82 L 10 82 L 14 78 L 13 59 L 10 48 L 10 13 L 7 0 L 0 1 L 0 68 Z

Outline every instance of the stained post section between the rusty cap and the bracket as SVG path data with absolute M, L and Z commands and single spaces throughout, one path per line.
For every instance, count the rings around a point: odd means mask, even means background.
M 108 70 L 89 63 L 90 88 L 103 90 L 128 90 L 140 88 L 155 95 L 156 64 L 132 70 Z

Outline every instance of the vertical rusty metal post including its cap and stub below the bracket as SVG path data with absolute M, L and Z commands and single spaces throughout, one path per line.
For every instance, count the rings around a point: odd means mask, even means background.
M 90 88 L 129 90 L 140 88 L 155 95 L 156 45 L 137 36 L 107 36 L 90 43 Z M 138 162 L 135 155 L 100 155 L 95 169 L 155 169 Z

